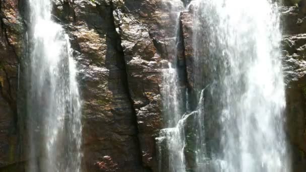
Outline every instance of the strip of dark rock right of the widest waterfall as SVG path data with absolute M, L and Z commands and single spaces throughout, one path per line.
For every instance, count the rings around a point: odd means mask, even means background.
M 306 6 L 281 9 L 282 59 L 286 81 L 286 132 L 292 150 L 293 171 L 306 170 Z

